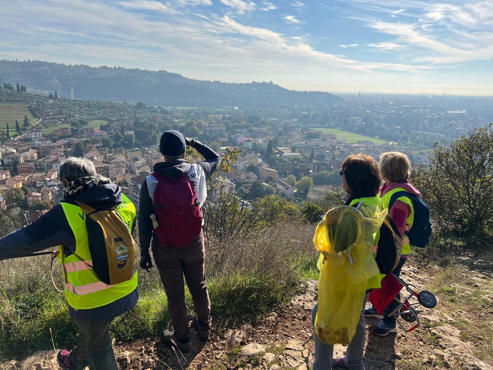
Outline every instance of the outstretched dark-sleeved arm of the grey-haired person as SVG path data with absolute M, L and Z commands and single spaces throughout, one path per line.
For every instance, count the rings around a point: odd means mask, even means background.
M 0 260 L 28 256 L 58 245 L 71 247 L 75 238 L 61 205 L 35 222 L 0 239 Z

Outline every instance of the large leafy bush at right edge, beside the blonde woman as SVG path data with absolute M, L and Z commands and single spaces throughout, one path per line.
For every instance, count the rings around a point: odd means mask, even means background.
M 423 194 L 435 225 L 462 236 L 491 232 L 493 222 L 493 126 L 469 131 L 454 143 L 435 144 L 431 164 L 413 168 L 411 182 Z

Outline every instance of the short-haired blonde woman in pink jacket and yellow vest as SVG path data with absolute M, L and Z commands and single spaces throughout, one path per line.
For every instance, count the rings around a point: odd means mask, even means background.
M 382 178 L 385 181 L 384 186 L 380 190 L 380 197 L 384 205 L 388 208 L 392 194 L 397 191 L 407 191 L 416 196 L 421 196 L 421 192 L 409 183 L 411 162 L 406 154 L 391 151 L 380 156 L 380 171 Z M 395 222 L 402 236 L 402 254 L 399 264 L 392 272 L 399 276 L 402 266 L 406 262 L 411 253 L 409 238 L 404 234 L 413 225 L 414 209 L 413 201 L 406 196 L 399 197 L 388 210 L 390 218 Z M 400 299 L 400 294 L 397 295 Z M 377 335 L 387 335 L 388 333 L 396 333 L 396 321 L 394 317 L 388 315 L 397 307 L 397 301 L 393 300 L 385 309 L 383 315 L 379 315 L 373 306 L 365 310 L 366 317 L 377 317 L 381 319 L 380 323 L 373 328 L 373 332 Z

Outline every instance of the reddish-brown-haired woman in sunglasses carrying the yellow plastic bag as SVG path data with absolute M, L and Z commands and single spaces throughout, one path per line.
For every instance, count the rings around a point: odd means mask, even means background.
M 355 206 L 362 202 L 363 213 L 373 209 L 376 212 L 382 211 L 385 207 L 378 196 L 382 177 L 377 161 L 370 155 L 357 154 L 347 157 L 341 169 L 342 187 L 346 191 L 344 197 L 346 206 Z M 365 215 L 371 217 L 372 215 Z M 373 245 L 377 245 L 380 233 L 375 234 Z M 380 282 L 384 275 L 378 274 L 367 283 L 367 292 L 381 288 Z M 346 350 L 346 356 L 341 359 L 333 359 L 334 346 L 320 341 L 315 333 L 315 318 L 317 316 L 318 303 L 312 310 L 312 324 L 314 325 L 315 356 L 313 370 L 325 370 L 332 367 L 338 369 L 364 370 L 363 348 L 366 338 L 366 327 L 363 312 L 368 300 L 367 293 L 364 297 L 361 314 L 356 327 L 356 333 L 352 337 L 351 343 Z

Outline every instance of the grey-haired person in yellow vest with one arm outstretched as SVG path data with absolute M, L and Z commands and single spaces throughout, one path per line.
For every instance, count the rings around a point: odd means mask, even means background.
M 89 366 L 90 370 L 117 370 L 109 325 L 115 317 L 136 306 L 137 272 L 128 281 L 106 285 L 87 263 L 74 256 L 89 254 L 86 215 L 75 201 L 95 209 L 116 206 L 116 212 L 130 229 L 135 227 L 136 210 L 121 187 L 99 177 L 88 159 L 68 158 L 60 166 L 59 176 L 65 186 L 62 203 L 35 222 L 1 238 L 0 260 L 28 256 L 59 245 L 58 259 L 63 253 L 67 270 L 65 297 L 81 335 L 72 351 L 58 353 L 58 363 L 63 369 Z

